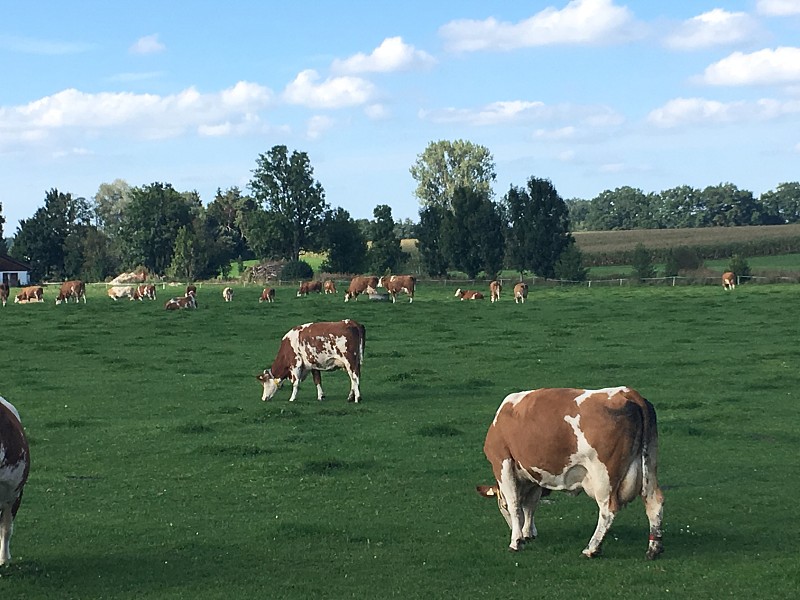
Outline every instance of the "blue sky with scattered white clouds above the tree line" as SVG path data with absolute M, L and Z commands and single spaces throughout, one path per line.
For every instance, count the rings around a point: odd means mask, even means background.
M 308 153 L 328 202 L 417 220 L 436 140 L 492 153 L 500 198 L 800 179 L 800 0 L 36 1 L 0 11 L 5 233 L 57 188 L 247 190 Z

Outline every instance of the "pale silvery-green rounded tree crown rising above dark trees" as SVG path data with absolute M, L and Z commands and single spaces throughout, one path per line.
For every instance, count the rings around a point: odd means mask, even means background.
M 466 188 L 487 198 L 492 196 L 494 159 L 488 148 L 472 142 L 440 140 L 431 142 L 410 169 L 417 182 L 414 194 L 422 206 L 452 210 L 453 195 Z

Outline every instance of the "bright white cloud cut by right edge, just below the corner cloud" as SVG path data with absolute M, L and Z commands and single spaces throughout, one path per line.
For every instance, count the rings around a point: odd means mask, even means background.
M 703 72 L 709 85 L 772 85 L 800 82 L 800 48 L 734 52 Z

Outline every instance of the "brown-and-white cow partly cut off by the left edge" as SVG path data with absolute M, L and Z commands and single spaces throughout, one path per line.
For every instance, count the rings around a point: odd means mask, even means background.
M 14 405 L 0 397 L 0 566 L 11 562 L 11 534 L 31 459 Z

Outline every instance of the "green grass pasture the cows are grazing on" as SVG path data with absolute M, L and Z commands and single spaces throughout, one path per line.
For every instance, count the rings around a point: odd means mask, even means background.
M 157 302 L 0 309 L 2 394 L 33 465 L 3 598 L 793 598 L 800 443 L 795 285 L 537 288 L 515 305 L 423 286 L 413 304 L 199 289 Z M 485 291 L 485 290 L 484 290 Z M 367 329 L 359 405 L 347 377 L 260 401 L 280 337 L 344 317 Z M 603 556 L 597 517 L 553 494 L 540 537 L 476 484 L 503 397 L 630 385 L 658 411 L 665 554 L 646 561 L 640 502 Z

